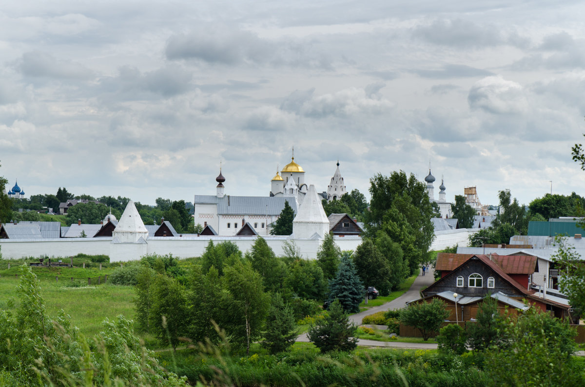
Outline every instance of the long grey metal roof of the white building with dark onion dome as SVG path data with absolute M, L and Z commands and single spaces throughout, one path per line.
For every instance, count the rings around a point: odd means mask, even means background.
M 297 203 L 284 196 L 195 195 L 194 204 L 217 204 L 218 215 L 280 215 L 284 202 L 297 213 Z

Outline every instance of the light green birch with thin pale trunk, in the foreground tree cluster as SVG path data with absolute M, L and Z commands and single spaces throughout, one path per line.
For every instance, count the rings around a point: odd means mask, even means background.
M 250 353 L 250 344 L 260 337 L 264 327 L 266 311 L 270 305 L 270 298 L 264 292 L 262 277 L 250 264 L 236 262 L 225 269 L 222 278 L 223 288 L 228 291 L 225 305 L 229 305 L 226 312 L 226 331 L 231 342 L 246 348 Z

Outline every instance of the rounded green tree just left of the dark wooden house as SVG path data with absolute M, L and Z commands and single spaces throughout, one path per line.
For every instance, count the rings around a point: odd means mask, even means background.
M 441 324 L 449 317 L 445 302 L 433 299 L 431 302 L 411 303 L 400 311 L 400 322 L 404 325 L 417 328 L 422 334 L 422 340 L 429 340 L 432 332 L 441 328 Z

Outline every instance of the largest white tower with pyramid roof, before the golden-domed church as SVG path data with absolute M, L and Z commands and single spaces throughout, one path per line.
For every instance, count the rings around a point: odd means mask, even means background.
M 329 219 L 317 195 L 314 185 L 309 185 L 307 195 L 292 220 L 292 236 L 295 239 L 323 239 L 329 233 Z

